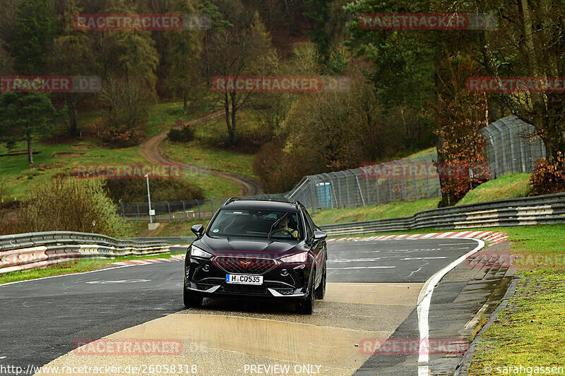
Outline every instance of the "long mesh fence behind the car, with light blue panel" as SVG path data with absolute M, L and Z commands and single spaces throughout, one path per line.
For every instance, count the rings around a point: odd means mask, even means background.
M 437 154 L 374 164 L 326 174 L 305 176 L 287 193 L 254 195 L 259 200 L 299 201 L 312 211 L 334 207 L 381 205 L 441 196 L 434 161 Z M 153 219 L 175 221 L 209 219 L 227 198 L 152 202 Z M 118 212 L 125 220 L 149 221 L 147 202 L 121 202 Z

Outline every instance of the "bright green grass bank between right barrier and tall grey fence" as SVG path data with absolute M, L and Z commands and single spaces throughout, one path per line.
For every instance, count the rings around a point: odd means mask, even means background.
M 470 190 L 457 205 L 521 198 L 530 191 L 530 174 L 511 174 L 482 183 Z

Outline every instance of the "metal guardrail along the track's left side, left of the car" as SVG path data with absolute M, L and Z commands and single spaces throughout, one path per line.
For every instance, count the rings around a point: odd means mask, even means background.
M 152 255 L 169 251 L 164 241 L 132 241 L 100 234 L 50 231 L 0 236 L 0 274 L 83 257 Z

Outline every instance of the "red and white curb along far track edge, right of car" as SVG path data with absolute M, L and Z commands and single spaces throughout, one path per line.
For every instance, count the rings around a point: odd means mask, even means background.
M 445 238 L 473 238 L 480 239 L 487 246 L 508 241 L 508 234 L 505 232 L 494 231 L 463 231 L 463 232 L 436 232 L 432 234 L 404 234 L 404 235 L 381 235 L 369 237 L 355 238 L 334 238 L 328 239 L 328 242 L 336 241 L 396 241 L 396 240 L 413 240 L 413 239 L 445 239 Z

